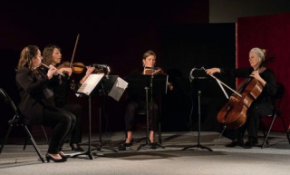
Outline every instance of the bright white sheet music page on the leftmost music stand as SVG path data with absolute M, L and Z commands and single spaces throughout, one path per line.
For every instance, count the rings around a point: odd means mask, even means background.
M 102 80 L 103 75 L 104 73 L 90 74 L 90 76 L 84 81 L 84 83 L 82 83 L 82 86 L 79 88 L 77 92 L 82 92 L 85 93 L 86 95 L 90 95 L 92 90 Z

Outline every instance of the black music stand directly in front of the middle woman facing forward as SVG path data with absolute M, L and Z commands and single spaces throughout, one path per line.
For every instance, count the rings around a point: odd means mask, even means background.
M 146 131 L 146 141 L 140 144 L 138 151 L 145 147 L 150 148 L 150 137 L 149 137 L 149 113 L 153 112 L 153 95 L 160 95 L 167 93 L 167 83 L 168 75 L 158 74 L 158 75 L 131 75 L 127 77 L 126 81 L 129 83 L 128 93 L 131 96 L 145 96 L 146 97 L 146 121 L 147 121 L 147 131 Z M 145 90 L 145 91 L 144 91 Z M 149 90 L 150 90 L 150 106 L 149 106 Z M 147 146 L 147 147 L 146 147 Z M 156 147 L 163 148 L 160 144 L 156 143 Z

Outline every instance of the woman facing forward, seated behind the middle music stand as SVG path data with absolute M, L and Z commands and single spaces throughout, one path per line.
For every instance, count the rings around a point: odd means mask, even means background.
M 143 53 L 142 63 L 143 63 L 143 68 L 140 70 L 134 70 L 133 73 L 131 74 L 147 74 L 146 70 L 150 70 L 151 73 L 154 73 L 154 71 L 156 71 L 156 73 L 163 72 L 162 70 L 153 69 L 156 63 L 156 53 L 154 53 L 153 51 L 149 50 Z M 159 122 L 159 105 L 157 104 L 155 100 L 152 103 L 152 108 L 151 108 L 152 110 L 150 111 L 150 116 L 149 116 L 150 117 L 150 121 L 149 121 L 150 138 L 149 139 L 150 139 L 150 145 L 152 149 L 156 148 L 154 132 L 158 131 L 158 122 Z M 138 109 L 140 109 L 140 105 L 146 105 L 145 101 L 146 101 L 145 96 L 131 95 L 127 98 L 126 109 L 125 109 L 125 131 L 127 134 L 127 138 L 124 143 L 124 146 L 126 147 L 129 147 L 132 145 L 132 141 L 133 141 L 132 131 L 134 128 L 135 113 Z M 142 108 L 145 109 L 146 106 L 142 106 Z

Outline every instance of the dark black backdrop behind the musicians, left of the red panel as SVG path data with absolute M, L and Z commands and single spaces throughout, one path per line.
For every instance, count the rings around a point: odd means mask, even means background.
M 111 74 L 124 77 L 141 65 L 141 55 L 152 49 L 157 53 L 158 66 L 169 74 L 175 85 L 162 100 L 162 129 L 164 131 L 188 131 L 191 107 L 196 108 L 196 94 L 189 83 L 189 72 L 193 67 L 235 66 L 235 24 L 208 24 L 208 1 L 190 3 L 102 3 L 98 6 L 75 5 L 68 8 L 61 4 L 52 8 L 34 5 L 11 5 L 0 12 L 0 57 L 5 65 L 0 69 L 3 87 L 17 103 L 19 95 L 14 83 L 14 68 L 19 54 L 27 44 L 36 44 L 41 49 L 46 44 L 58 44 L 63 49 L 63 60 L 69 61 L 77 34 L 79 44 L 75 62 L 86 65 L 106 63 Z M 150 10 L 149 10 L 150 9 Z M 81 77 L 81 75 L 75 75 Z M 210 86 L 217 86 L 212 83 Z M 227 80 L 226 80 L 227 81 Z M 232 80 L 228 81 L 231 83 Z M 202 83 L 204 84 L 204 83 Z M 204 86 L 204 85 L 202 85 Z M 195 85 L 195 87 L 197 87 Z M 209 90 L 208 90 L 209 89 Z M 190 95 L 190 92 L 192 95 Z M 212 94 L 208 95 L 208 92 Z M 218 94 L 218 95 L 217 95 Z M 193 98 L 193 105 L 191 103 Z M 218 87 L 202 89 L 212 114 L 202 112 L 205 125 L 217 126 L 216 102 L 224 100 Z M 213 101 L 212 98 L 218 98 Z M 84 108 L 82 131 L 88 131 L 87 100 L 76 98 Z M 204 103 L 204 102 L 203 102 Z M 104 108 L 106 119 L 102 120 L 105 131 L 123 131 L 124 103 L 110 99 Z M 11 117 L 1 103 L 0 135 L 4 136 L 7 120 Z M 99 131 L 100 99 L 92 99 L 92 130 Z M 196 123 L 196 109 L 192 120 Z M 208 117 L 210 116 L 210 117 Z M 210 120 L 209 120 L 210 119 Z M 208 121 L 209 120 L 209 121 Z M 205 130 L 207 129 L 204 127 Z

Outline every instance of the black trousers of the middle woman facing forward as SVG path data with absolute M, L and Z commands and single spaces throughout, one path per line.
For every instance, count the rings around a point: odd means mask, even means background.
M 150 102 L 151 104 L 151 102 Z M 149 104 L 149 127 L 150 131 L 158 131 L 158 121 L 159 121 L 159 106 L 156 102 L 153 102 L 153 105 Z M 135 126 L 135 115 L 137 110 L 145 109 L 146 110 L 146 102 L 137 102 L 130 101 L 126 104 L 126 112 L 125 112 L 125 131 L 133 131 Z

